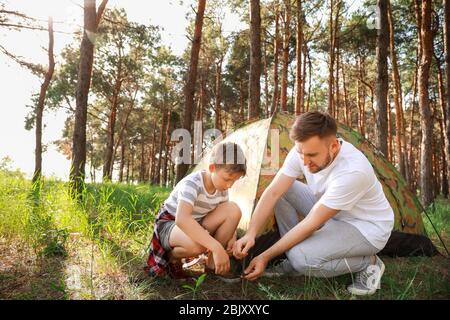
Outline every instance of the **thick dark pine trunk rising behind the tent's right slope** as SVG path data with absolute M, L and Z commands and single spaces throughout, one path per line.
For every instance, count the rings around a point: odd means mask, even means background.
M 378 0 L 379 25 L 377 30 L 377 81 L 376 81 L 376 127 L 377 127 L 377 147 L 385 155 L 388 155 L 388 116 L 387 116 L 387 95 L 388 95 L 388 44 L 389 44 L 389 25 L 388 25 L 388 3 L 389 0 Z

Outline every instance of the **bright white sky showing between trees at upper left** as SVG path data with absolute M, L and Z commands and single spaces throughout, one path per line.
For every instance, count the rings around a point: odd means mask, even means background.
M 82 0 L 2 0 L 9 10 L 18 10 L 29 16 L 47 20 L 50 15 L 55 21 L 55 30 L 73 32 L 82 26 Z M 97 0 L 97 5 L 100 3 Z M 186 38 L 186 12 L 195 1 L 178 0 L 109 0 L 108 7 L 123 7 L 131 21 L 151 23 L 164 28 L 163 42 L 172 47 L 175 54 L 181 54 L 188 45 Z M 45 24 L 45 22 L 44 22 Z M 226 14 L 224 30 L 238 30 L 242 24 L 238 18 Z M 68 34 L 55 33 L 55 56 L 59 62 L 61 49 L 72 41 Z M 0 29 L 0 43 L 10 52 L 22 56 L 26 61 L 47 65 L 48 57 L 42 49 L 48 45 L 45 31 L 8 31 Z M 0 159 L 10 156 L 14 168 L 20 168 L 29 177 L 34 171 L 34 130 L 24 129 L 25 116 L 31 104 L 31 95 L 39 92 L 41 79 L 21 68 L 15 62 L 0 55 Z M 43 174 L 68 178 L 70 162 L 51 144 L 61 137 L 61 130 L 67 115 L 64 112 L 45 114 L 43 143 L 48 150 L 43 154 Z

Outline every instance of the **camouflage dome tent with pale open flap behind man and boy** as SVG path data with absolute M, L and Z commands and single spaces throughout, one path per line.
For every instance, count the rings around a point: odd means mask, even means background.
M 276 113 L 274 116 L 250 121 L 239 126 L 233 133 L 220 141 L 238 143 L 247 159 L 247 175 L 230 189 L 230 200 L 242 210 L 239 229 L 247 230 L 253 209 L 263 191 L 281 168 L 289 150 L 294 146 L 289 138 L 289 129 L 295 121 L 293 115 Z M 394 256 L 433 255 L 436 248 L 426 236 L 422 221 L 423 208 L 417 197 L 408 189 L 405 179 L 369 141 L 358 132 L 343 124 L 338 125 L 338 136 L 361 150 L 372 164 L 384 193 L 395 214 L 394 232 L 388 241 L 385 254 Z M 205 151 L 202 160 L 193 171 L 206 168 L 210 155 Z M 274 218 L 268 221 L 261 236 L 276 234 Z M 269 236 L 273 242 L 276 237 Z

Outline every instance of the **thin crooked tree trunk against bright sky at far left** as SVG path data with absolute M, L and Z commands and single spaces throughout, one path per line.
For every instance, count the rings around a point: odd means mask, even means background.
M 39 92 L 38 105 L 36 106 L 36 150 L 35 150 L 35 168 L 33 174 L 33 183 L 39 181 L 42 175 L 42 118 L 44 115 L 45 97 L 48 86 L 55 71 L 55 58 L 53 56 L 54 34 L 53 19 L 48 18 L 48 70 L 45 74 L 44 82 Z

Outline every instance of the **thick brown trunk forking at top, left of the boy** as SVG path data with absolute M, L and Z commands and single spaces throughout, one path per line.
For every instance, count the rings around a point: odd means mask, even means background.
M 86 165 L 86 122 L 89 88 L 94 62 L 94 41 L 98 24 L 108 0 L 96 10 L 95 0 L 84 0 L 84 32 L 80 46 L 80 64 L 76 89 L 75 127 L 73 132 L 73 160 L 70 181 L 74 196 L 81 194 Z

